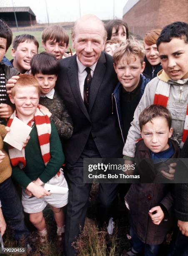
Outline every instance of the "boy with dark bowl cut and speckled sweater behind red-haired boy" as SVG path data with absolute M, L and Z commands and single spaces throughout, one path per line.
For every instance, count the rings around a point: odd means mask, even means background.
M 73 122 L 63 100 L 54 90 L 59 74 L 59 61 L 46 52 L 36 54 L 31 60 L 31 73 L 40 85 L 41 111 L 53 121 L 60 138 L 70 138 L 73 133 Z

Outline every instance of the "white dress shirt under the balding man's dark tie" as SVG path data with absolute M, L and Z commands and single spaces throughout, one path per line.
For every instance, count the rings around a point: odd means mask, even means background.
M 78 81 L 79 81 L 79 85 L 80 85 L 80 93 L 82 96 L 82 99 L 84 100 L 83 97 L 83 88 L 84 88 L 84 81 L 85 81 L 85 77 L 87 77 L 87 71 L 85 71 L 86 66 L 84 66 L 78 59 L 78 57 L 76 57 L 76 61 L 78 64 Z M 93 73 L 95 71 L 95 67 L 97 65 L 97 62 L 95 62 L 91 67 L 91 76 L 93 77 Z

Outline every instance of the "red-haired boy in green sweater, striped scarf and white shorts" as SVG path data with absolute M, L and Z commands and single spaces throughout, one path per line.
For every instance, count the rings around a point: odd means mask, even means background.
M 35 77 L 28 74 L 20 75 L 10 94 L 10 100 L 15 104 L 16 110 L 10 117 L 8 126 L 17 116 L 32 127 L 32 131 L 27 146 L 22 151 L 10 148 L 9 156 L 13 165 L 13 178 L 23 187 L 24 211 L 29 213 L 30 221 L 39 232 L 40 241 L 44 242 L 47 236 L 43 217 L 45 206 L 49 204 L 53 210 L 58 240 L 61 240 L 64 233 L 61 207 L 67 204 L 68 195 L 54 197 L 44 189 L 43 184 L 68 186 L 60 169 L 64 162 L 60 139 L 53 123 L 38 108 L 39 97 L 40 86 Z M 30 198 L 32 195 L 34 197 Z

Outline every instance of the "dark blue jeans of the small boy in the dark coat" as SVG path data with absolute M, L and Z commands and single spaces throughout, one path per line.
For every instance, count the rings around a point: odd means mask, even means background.
M 147 243 L 143 243 L 134 232 L 133 228 L 130 228 L 130 236 L 133 241 L 133 248 L 138 253 L 144 251 L 144 256 L 155 256 L 158 255 L 160 244 L 151 245 Z

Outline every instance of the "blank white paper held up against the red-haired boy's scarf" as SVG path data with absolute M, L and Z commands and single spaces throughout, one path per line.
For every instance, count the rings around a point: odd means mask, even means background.
M 22 150 L 23 141 L 26 141 L 31 130 L 32 128 L 29 125 L 15 117 L 10 125 L 10 132 L 7 133 L 3 141 L 18 150 Z

